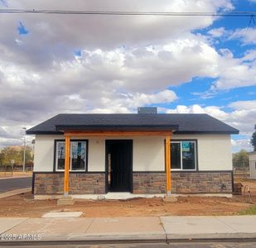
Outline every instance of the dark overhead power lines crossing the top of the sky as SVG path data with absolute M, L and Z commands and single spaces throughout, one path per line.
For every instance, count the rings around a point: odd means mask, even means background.
M 0 13 L 34 13 L 61 15 L 165 16 L 165 17 L 255 17 L 256 12 L 106 12 L 72 10 L 0 9 Z

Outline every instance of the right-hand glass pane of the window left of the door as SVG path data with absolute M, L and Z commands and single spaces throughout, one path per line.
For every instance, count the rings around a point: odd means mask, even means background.
M 85 141 L 71 142 L 71 168 L 72 170 L 85 170 Z

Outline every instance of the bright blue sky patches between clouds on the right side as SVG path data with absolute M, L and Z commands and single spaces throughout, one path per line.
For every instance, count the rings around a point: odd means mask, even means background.
M 256 11 L 256 2 L 249 1 L 234 1 L 234 11 Z M 233 31 L 238 28 L 247 28 L 249 27 L 249 21 L 251 17 L 221 17 L 219 20 L 215 21 L 213 25 L 206 27 L 203 30 L 196 30 L 195 33 L 200 33 L 207 36 L 207 32 L 211 29 L 225 27 L 227 31 Z M 254 17 L 256 19 L 256 17 Z M 251 28 L 256 28 L 254 22 L 250 23 Z M 248 31 L 250 32 L 250 30 Z M 246 33 L 246 31 L 245 31 Z M 234 57 L 240 58 L 243 57 L 247 50 L 254 50 L 255 45 L 244 44 L 239 39 L 229 40 L 220 36 L 220 39 L 215 39 L 213 44 L 216 50 L 220 49 L 229 49 L 233 53 Z M 195 78 L 188 83 L 181 84 L 178 87 L 171 87 L 176 93 L 181 97 L 178 100 L 178 104 L 187 105 L 187 101 L 190 101 L 189 104 L 205 104 L 205 105 L 215 105 L 220 107 L 225 107 L 229 103 L 236 101 L 245 101 L 245 100 L 255 100 L 256 98 L 256 88 L 254 86 L 250 87 L 239 87 L 234 89 L 229 89 L 223 92 L 220 92 L 215 95 L 214 98 L 196 98 L 193 93 L 195 92 L 205 92 L 214 83 L 215 79 L 212 78 Z M 189 97 L 188 97 L 189 96 Z M 200 102 L 199 102 L 200 101 Z M 173 105 L 171 107 L 174 107 Z M 228 110 L 228 108 L 226 109 Z

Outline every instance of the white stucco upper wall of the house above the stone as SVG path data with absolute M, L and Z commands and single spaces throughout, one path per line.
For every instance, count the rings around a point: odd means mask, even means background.
M 36 136 L 35 171 L 52 171 L 54 140 L 64 136 Z M 105 140 L 116 137 L 77 137 L 88 139 L 89 171 L 104 171 Z M 133 171 L 162 171 L 164 165 L 164 137 L 119 137 L 133 140 Z M 196 139 L 198 142 L 198 165 L 200 170 L 232 170 L 230 136 L 228 135 L 173 135 L 171 139 Z

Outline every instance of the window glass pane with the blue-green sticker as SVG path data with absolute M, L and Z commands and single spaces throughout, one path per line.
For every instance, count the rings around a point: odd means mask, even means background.
M 195 169 L 195 142 L 182 141 L 182 169 Z

